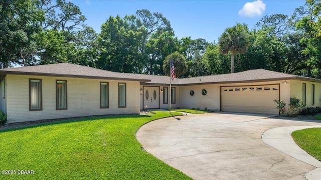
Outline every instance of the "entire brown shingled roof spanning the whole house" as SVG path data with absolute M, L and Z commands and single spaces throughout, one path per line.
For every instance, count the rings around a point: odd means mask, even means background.
M 135 73 L 120 73 L 108 70 L 76 65 L 72 63 L 56 63 L 47 65 L 34 65 L 15 68 L 0 69 L 0 75 L 4 74 L 25 74 L 25 75 L 45 75 L 45 76 L 63 76 L 80 78 L 98 78 L 98 79 L 117 79 L 134 80 L 148 85 L 168 85 L 170 77 L 164 75 L 148 75 Z M 303 77 L 299 75 L 275 72 L 265 69 L 253 69 L 243 72 L 198 76 L 190 78 L 175 78 L 173 85 L 197 85 L 208 83 L 234 83 L 234 82 L 258 82 L 271 80 L 298 79 L 307 81 L 321 82 L 321 79 Z

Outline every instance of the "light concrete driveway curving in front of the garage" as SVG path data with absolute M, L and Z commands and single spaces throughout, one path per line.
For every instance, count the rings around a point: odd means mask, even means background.
M 164 118 L 143 125 L 143 148 L 194 179 L 305 179 L 315 166 L 264 143 L 264 131 L 319 122 L 244 113 L 205 113 Z

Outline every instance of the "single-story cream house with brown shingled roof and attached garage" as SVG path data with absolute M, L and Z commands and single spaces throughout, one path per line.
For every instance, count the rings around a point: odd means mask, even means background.
M 321 106 L 321 79 L 253 69 L 175 78 L 119 73 L 71 63 L 0 69 L 0 110 L 11 122 L 142 109 L 199 107 L 277 115 L 274 99 Z M 170 90 L 172 98 L 170 102 Z

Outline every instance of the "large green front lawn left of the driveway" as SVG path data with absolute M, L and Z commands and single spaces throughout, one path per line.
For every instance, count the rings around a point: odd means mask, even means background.
M 181 113 L 173 113 L 180 115 Z M 135 132 L 171 114 L 117 115 L 0 132 L 0 179 L 191 179 L 142 150 Z

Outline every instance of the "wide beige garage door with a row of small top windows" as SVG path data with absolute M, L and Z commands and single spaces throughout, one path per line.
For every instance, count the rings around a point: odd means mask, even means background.
M 278 114 L 279 85 L 222 86 L 221 110 Z

